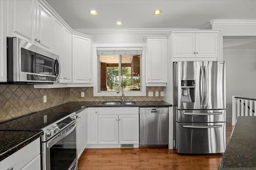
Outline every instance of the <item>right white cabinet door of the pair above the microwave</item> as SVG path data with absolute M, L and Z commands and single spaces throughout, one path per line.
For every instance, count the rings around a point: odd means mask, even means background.
M 40 3 L 37 3 L 36 36 L 37 45 L 52 51 L 53 15 Z

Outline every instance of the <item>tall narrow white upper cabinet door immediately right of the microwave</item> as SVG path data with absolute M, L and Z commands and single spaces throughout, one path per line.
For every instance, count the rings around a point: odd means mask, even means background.
M 59 62 L 60 66 L 65 62 L 64 56 L 63 56 L 63 41 L 64 41 L 64 26 L 56 19 L 53 20 L 53 53 L 57 54 L 59 56 Z M 60 76 L 59 76 L 59 82 L 63 83 L 63 70 L 65 70 L 65 67 L 61 67 L 60 69 Z

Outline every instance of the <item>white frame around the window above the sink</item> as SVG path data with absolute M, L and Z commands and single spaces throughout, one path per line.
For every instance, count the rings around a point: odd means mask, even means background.
M 141 91 L 124 91 L 125 96 L 146 96 L 146 65 L 145 65 L 145 45 L 144 44 L 94 44 L 93 47 L 93 63 L 94 64 L 94 96 L 121 96 L 122 93 L 117 92 L 102 92 L 99 91 L 99 57 L 97 55 L 97 50 L 101 51 L 127 51 L 127 50 L 142 50 L 141 55 Z

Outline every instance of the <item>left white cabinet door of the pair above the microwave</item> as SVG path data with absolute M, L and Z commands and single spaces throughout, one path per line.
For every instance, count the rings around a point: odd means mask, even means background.
M 17 36 L 31 43 L 34 41 L 36 1 L 8 1 L 8 36 Z

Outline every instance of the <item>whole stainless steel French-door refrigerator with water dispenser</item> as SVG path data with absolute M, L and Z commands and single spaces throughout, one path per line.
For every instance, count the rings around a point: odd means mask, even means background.
M 226 148 L 224 61 L 173 65 L 174 148 L 177 153 L 222 153 Z

